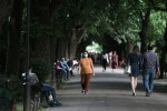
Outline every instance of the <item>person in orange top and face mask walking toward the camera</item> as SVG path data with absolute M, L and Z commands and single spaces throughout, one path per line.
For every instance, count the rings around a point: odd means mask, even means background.
M 84 58 L 79 61 L 79 74 L 81 77 L 81 93 L 88 94 L 91 74 L 95 77 L 94 64 L 91 58 L 88 58 L 88 52 L 84 52 Z

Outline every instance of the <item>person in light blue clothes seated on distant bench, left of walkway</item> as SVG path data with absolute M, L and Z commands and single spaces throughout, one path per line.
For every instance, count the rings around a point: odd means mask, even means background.
M 65 58 L 61 59 L 60 61 L 60 67 L 62 68 L 63 72 L 65 72 L 65 80 L 69 80 L 69 67 L 67 64 L 67 62 L 65 61 Z

